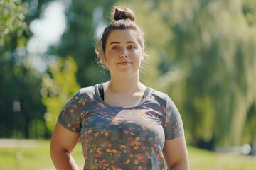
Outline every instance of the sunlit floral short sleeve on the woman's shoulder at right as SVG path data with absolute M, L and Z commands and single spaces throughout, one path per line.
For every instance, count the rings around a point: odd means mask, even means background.
M 184 135 L 184 128 L 181 115 L 173 101 L 166 95 L 166 123 L 164 133 L 166 140 L 171 140 Z

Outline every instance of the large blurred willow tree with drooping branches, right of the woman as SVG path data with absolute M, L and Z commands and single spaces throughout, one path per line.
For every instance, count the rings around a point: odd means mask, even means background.
M 191 140 L 239 145 L 256 100 L 255 28 L 242 13 L 242 1 L 159 1 L 156 6 L 174 32 L 166 46 L 172 64 L 160 79 L 178 101 Z

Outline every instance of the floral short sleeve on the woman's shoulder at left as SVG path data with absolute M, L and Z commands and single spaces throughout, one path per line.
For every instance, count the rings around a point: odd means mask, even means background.
M 65 106 L 63 106 L 63 109 L 60 111 L 60 115 L 58 116 L 58 122 L 63 125 L 64 128 L 75 133 L 80 133 L 82 125 L 79 94 L 80 91 L 65 103 Z

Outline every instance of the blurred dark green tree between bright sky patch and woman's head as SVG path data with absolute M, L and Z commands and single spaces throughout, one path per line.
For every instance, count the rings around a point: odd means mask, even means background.
M 111 1 L 72 1 L 66 16 L 67 29 L 58 47 L 52 47 L 50 53 L 62 57 L 73 56 L 78 64 L 78 83 L 90 86 L 106 81 L 108 74 L 100 72 L 95 63 L 94 44 L 97 34 L 105 26 L 105 16 L 114 4 Z

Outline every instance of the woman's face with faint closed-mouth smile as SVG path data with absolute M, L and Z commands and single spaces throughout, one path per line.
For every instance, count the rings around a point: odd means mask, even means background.
M 107 38 L 105 64 L 111 75 L 132 77 L 139 75 L 143 50 L 134 30 L 112 30 Z

